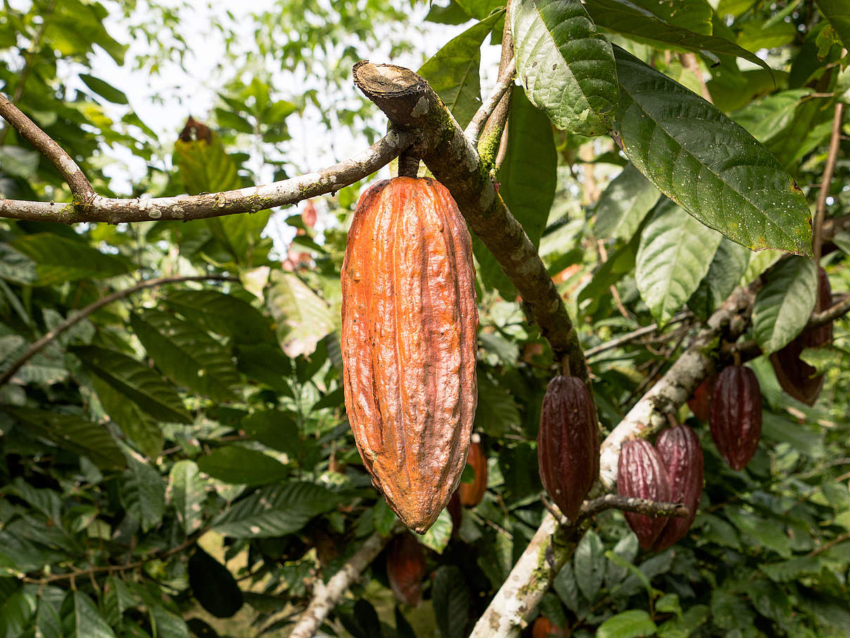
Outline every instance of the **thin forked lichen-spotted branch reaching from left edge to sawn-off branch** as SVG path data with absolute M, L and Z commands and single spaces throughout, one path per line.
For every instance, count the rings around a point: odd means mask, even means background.
M 100 197 L 77 163 L 2 94 L 0 115 L 54 163 L 74 196 L 74 202 L 71 203 L 0 199 L 0 217 L 63 224 L 84 221 L 120 224 L 152 219 L 186 221 L 238 213 L 257 213 L 275 206 L 288 206 L 303 199 L 338 191 L 368 177 L 398 157 L 401 151 L 416 139 L 416 134 L 412 131 L 390 130 L 381 140 L 344 162 L 316 173 L 299 175 L 268 185 L 203 195 L 117 199 Z

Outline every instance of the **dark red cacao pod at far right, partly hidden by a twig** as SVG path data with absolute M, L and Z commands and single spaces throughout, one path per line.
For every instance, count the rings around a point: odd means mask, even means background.
M 823 268 L 818 269 L 818 303 L 815 310 L 826 310 L 832 303 L 830 280 Z M 820 390 L 824 387 L 824 375 L 818 374 L 816 368 L 804 362 L 800 355 L 806 348 L 819 348 L 821 345 L 832 343 L 832 324 L 804 331 L 796 336 L 790 344 L 770 356 L 779 385 L 789 396 L 809 406 L 818 400 Z

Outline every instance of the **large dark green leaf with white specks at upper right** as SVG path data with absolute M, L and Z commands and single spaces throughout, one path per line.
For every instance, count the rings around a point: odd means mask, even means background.
M 615 55 L 616 134 L 649 181 L 747 248 L 811 254 L 806 198 L 779 162 L 699 95 L 621 48 Z

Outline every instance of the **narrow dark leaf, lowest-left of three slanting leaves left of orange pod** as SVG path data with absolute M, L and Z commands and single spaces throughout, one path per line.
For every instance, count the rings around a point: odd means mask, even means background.
M 192 422 L 173 385 L 166 383 L 150 367 L 116 350 L 94 345 L 75 348 L 74 353 L 90 373 L 97 375 L 152 417 L 177 423 Z

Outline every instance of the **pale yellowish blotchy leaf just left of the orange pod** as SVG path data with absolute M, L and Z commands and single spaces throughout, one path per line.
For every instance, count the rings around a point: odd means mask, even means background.
M 266 305 L 277 322 L 280 348 L 287 356 L 310 355 L 337 322 L 325 299 L 291 272 L 272 271 Z

